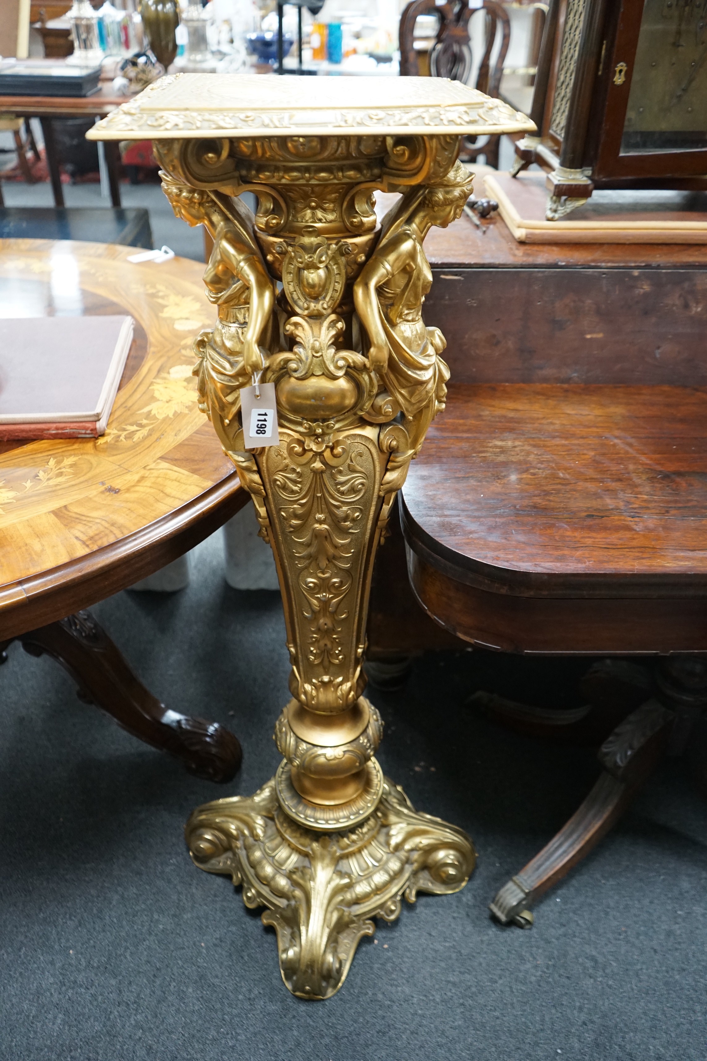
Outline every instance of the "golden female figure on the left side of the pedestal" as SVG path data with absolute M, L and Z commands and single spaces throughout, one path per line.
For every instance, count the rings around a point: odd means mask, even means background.
M 189 225 L 204 225 L 213 239 L 204 282 L 207 297 L 218 307 L 218 320 L 213 331 L 202 331 L 194 341 L 199 359 L 194 375 L 199 408 L 229 424 L 238 408 L 240 388 L 264 367 L 269 352 L 275 284 L 251 234 L 252 213 L 238 199 L 161 176 L 175 214 Z

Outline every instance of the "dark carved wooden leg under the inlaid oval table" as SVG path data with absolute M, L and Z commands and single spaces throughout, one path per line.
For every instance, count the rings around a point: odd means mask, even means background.
M 46 653 L 55 659 L 77 683 L 81 699 L 102 708 L 128 733 L 181 760 L 190 773 L 226 782 L 238 770 L 237 738 L 218 723 L 190 718 L 160 703 L 88 611 L 15 640 L 32 656 Z M 5 647 L 0 645 L 0 651 Z

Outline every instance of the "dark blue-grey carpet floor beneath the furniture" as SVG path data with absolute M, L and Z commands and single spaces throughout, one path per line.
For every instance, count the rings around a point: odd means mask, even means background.
M 583 664 L 477 654 L 421 660 L 374 694 L 384 768 L 417 806 L 474 837 L 452 898 L 422 897 L 364 940 L 340 993 L 283 987 L 275 935 L 230 882 L 195 869 L 181 827 L 199 802 L 251 793 L 287 658 L 273 593 L 223 581 L 219 542 L 177 594 L 95 609 L 143 680 L 243 742 L 226 790 L 81 703 L 50 660 L 0 671 L 0 1057 L 7 1061 L 647 1061 L 707 1056 L 707 806 L 667 764 L 604 843 L 537 907 L 531 932 L 487 904 L 575 810 L 597 767 L 483 723 L 463 701 L 496 675 L 565 696 Z M 537 693 L 535 694 L 537 695 Z

